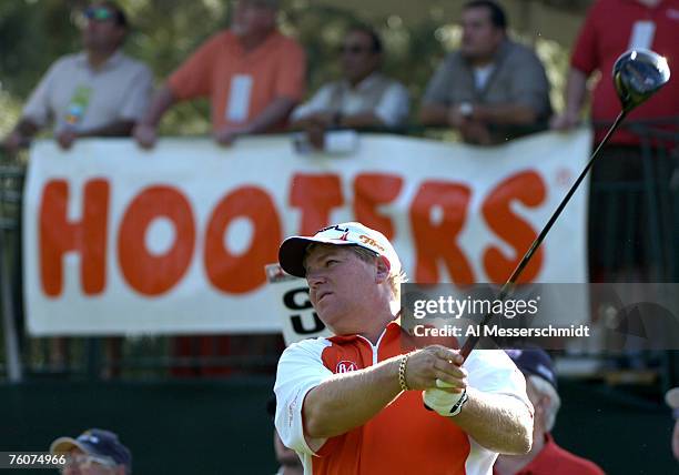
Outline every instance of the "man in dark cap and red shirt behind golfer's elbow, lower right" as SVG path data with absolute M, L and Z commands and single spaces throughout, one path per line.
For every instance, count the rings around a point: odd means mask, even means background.
M 526 391 L 535 408 L 533 448 L 524 455 L 500 455 L 495 475 L 602 475 L 595 463 L 559 447 L 551 429 L 561 400 L 551 357 L 539 348 L 507 350 L 507 354 L 526 376 Z

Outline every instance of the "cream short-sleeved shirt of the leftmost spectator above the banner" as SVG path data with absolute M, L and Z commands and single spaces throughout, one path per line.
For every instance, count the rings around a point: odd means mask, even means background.
M 99 69 L 84 52 L 57 60 L 31 93 L 23 118 L 39 127 L 54 123 L 88 131 L 118 121 L 136 121 L 145 112 L 153 75 L 143 63 L 115 52 Z

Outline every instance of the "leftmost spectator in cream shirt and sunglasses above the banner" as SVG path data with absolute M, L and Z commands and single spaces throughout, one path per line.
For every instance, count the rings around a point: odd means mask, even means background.
M 128 20 L 114 2 L 92 3 L 82 16 L 83 51 L 57 60 L 31 93 L 4 140 L 10 152 L 53 122 L 63 149 L 79 138 L 130 135 L 149 104 L 151 70 L 121 52 Z

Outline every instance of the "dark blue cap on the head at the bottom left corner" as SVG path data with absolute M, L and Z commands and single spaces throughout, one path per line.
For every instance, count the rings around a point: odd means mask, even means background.
M 132 454 L 125 447 L 118 435 L 102 428 L 90 428 L 77 438 L 59 437 L 50 445 L 50 452 L 69 452 L 80 448 L 89 455 L 98 455 L 112 458 L 118 465 L 124 465 L 128 473 L 132 469 Z

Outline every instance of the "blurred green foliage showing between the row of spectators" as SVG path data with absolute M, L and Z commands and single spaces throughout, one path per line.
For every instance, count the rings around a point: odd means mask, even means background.
M 83 0 L 0 1 L 0 137 L 17 121 L 23 101 L 51 62 L 80 49 L 78 24 L 80 12 L 88 3 Z M 202 41 L 226 28 L 231 8 L 227 0 L 121 0 L 120 3 L 133 26 L 125 50 L 152 68 L 159 84 Z M 351 23 L 364 20 L 364 14 L 318 6 L 312 0 L 285 3 L 280 16 L 281 29 L 306 49 L 308 92 L 338 75 L 335 52 L 343 32 Z M 428 78 L 444 54 L 458 44 L 460 29 L 455 19 L 437 14 L 417 24 L 397 16 L 385 16 L 372 24 L 385 43 L 384 69 L 408 85 L 415 114 Z M 560 109 L 568 51 L 531 32 L 510 33 L 536 48 L 553 84 L 553 103 Z M 162 132 L 206 133 L 207 109 L 206 101 L 173 108 L 163 120 Z

